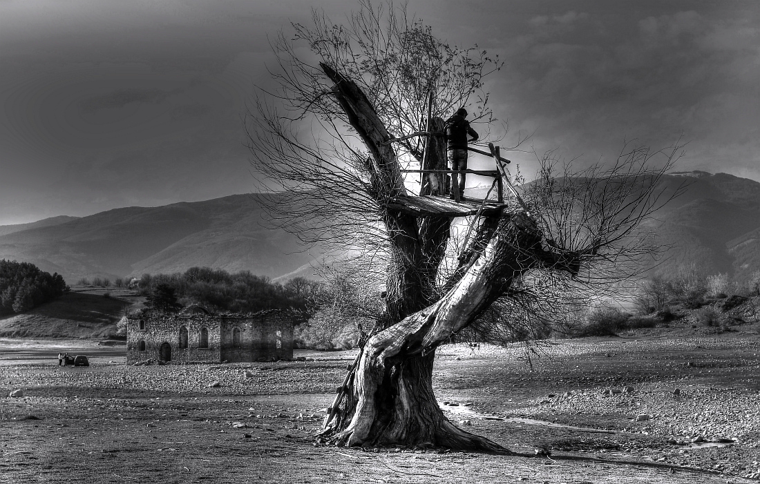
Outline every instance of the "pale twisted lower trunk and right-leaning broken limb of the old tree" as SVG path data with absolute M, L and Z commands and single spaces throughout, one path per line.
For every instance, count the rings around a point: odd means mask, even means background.
M 537 226 L 525 214 L 502 217 L 483 253 L 438 302 L 404 318 L 366 343 L 345 389 L 325 421 L 325 436 L 353 445 L 431 445 L 505 451 L 486 438 L 457 429 L 443 416 L 432 391 L 435 348 L 467 327 L 534 265 Z

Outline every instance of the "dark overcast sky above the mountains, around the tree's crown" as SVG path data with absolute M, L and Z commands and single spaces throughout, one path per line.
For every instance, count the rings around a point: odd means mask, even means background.
M 242 115 L 267 36 L 356 2 L 0 0 L 0 225 L 253 189 Z M 511 135 L 613 159 L 688 142 L 677 169 L 760 181 L 760 2 L 412 0 L 506 61 Z M 512 156 L 530 172 L 530 157 Z

